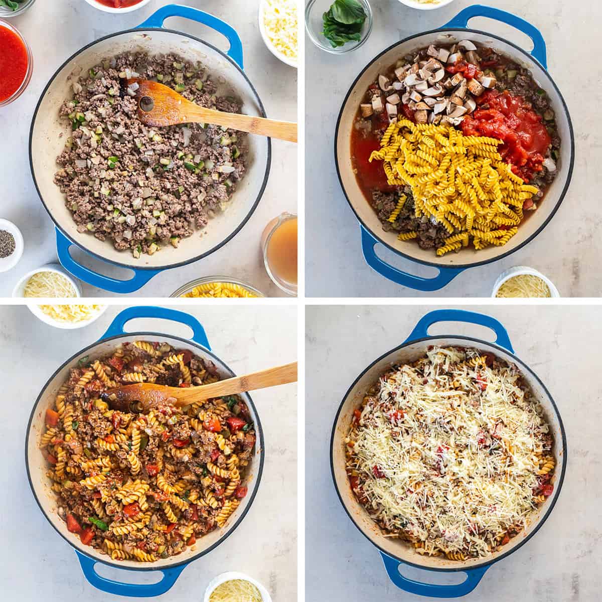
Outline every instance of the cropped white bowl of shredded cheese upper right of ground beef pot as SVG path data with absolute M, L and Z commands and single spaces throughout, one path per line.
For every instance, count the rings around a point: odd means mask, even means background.
M 259 32 L 272 54 L 283 63 L 297 67 L 298 9 L 296 0 L 261 0 Z

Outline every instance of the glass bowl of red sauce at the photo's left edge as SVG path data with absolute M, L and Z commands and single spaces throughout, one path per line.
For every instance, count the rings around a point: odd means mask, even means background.
M 0 107 L 13 102 L 29 84 L 33 56 L 19 30 L 0 19 Z

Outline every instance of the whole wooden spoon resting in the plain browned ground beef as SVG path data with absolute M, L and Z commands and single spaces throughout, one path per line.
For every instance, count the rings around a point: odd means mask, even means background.
M 194 104 L 169 86 L 157 81 L 128 79 L 128 87 L 134 83 L 138 84 L 135 90 L 138 119 L 144 125 L 164 127 L 178 123 L 212 123 L 250 134 L 290 142 L 297 141 L 296 123 L 207 109 Z

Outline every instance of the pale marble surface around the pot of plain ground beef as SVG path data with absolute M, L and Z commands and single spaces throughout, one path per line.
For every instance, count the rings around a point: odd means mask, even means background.
M 245 71 L 255 86 L 268 116 L 297 120 L 297 70 L 288 67 L 265 47 L 258 26 L 258 0 L 174 0 L 212 13 L 229 22 L 243 42 Z M 10 297 L 20 276 L 56 261 L 54 226 L 37 196 L 29 172 L 28 140 L 31 116 L 43 88 L 63 61 L 99 37 L 139 25 L 155 10 L 170 4 L 152 0 L 140 10 L 108 14 L 84 0 L 49 2 L 38 0 L 22 16 L 11 19 L 28 41 L 34 55 L 34 73 L 29 87 L 17 101 L 0 108 L 0 217 L 11 220 L 25 238 L 19 264 L 0 275 L 0 297 Z M 206 39 L 225 50 L 228 42 L 203 25 L 186 19 L 170 19 L 167 26 Z M 284 296 L 268 278 L 259 250 L 265 225 L 283 211 L 297 213 L 296 145 L 272 143 L 272 170 L 264 196 L 253 216 L 226 246 L 201 261 L 166 270 L 132 296 L 169 297 L 176 288 L 201 276 L 225 275 L 242 279 L 269 296 Z M 88 267 L 108 276 L 129 278 L 131 272 L 90 259 Z M 84 296 L 114 293 L 84 285 Z

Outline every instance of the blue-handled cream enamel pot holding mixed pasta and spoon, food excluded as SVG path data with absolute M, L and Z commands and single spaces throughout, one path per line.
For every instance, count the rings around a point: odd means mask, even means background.
M 133 332 L 125 334 L 125 324 L 129 320 L 134 320 L 135 318 L 157 318 L 179 322 L 190 326 L 194 334 L 191 340 L 173 337 L 159 332 Z M 25 462 L 29 484 L 31 485 L 34 497 L 40 506 L 40 510 L 42 510 L 46 519 L 59 535 L 75 549 L 79 562 L 81 563 L 82 571 L 84 571 L 84 576 L 88 582 L 96 588 L 110 594 L 152 597 L 166 592 L 173 583 L 175 583 L 179 574 L 190 562 L 208 554 L 211 550 L 216 548 L 225 541 L 225 539 L 231 535 L 241 523 L 253 503 L 253 499 L 259 488 L 264 463 L 264 436 L 255 406 L 253 406 L 250 396 L 244 393 L 242 396 L 249 406 L 253 423 L 255 423 L 256 432 L 255 452 L 249 463 L 246 481 L 249 493 L 241 500 L 240 506 L 238 506 L 237 510 L 232 517 L 229 518 L 224 527 L 216 529 L 197 539 L 194 546 L 186 548 L 185 551 L 178 554 L 178 556 L 160 559 L 157 560 L 157 562 L 151 563 L 134 562 L 132 560 L 114 562 L 107 554 L 101 554 L 96 548 L 90 547 L 89 545 L 83 545 L 81 541 L 79 541 L 77 535 L 70 533 L 67 530 L 66 524 L 58 516 L 57 499 L 54 492 L 50 489 L 52 483 L 46 477 L 48 464 L 42 457 L 39 447 L 40 436 L 45 430 L 46 408 L 49 408 L 52 403 L 54 403 L 58 388 L 69 377 L 70 368 L 76 367 L 80 359 L 88 358 L 88 360 L 92 360 L 112 352 L 121 343 L 133 343 L 133 341 L 138 340 L 165 341 L 178 349 L 188 349 L 194 355 L 212 361 L 216 365 L 222 379 L 234 376 L 234 373 L 228 365 L 211 352 L 205 330 L 195 318 L 191 317 L 191 315 L 181 311 L 152 306 L 125 309 L 117 315 L 107 332 L 105 332 L 104 336 L 98 342 L 88 345 L 80 352 L 76 353 L 76 355 L 67 359 L 67 361 L 52 374 L 46 385 L 43 387 L 42 392 L 36 400 L 33 411 L 31 412 L 31 417 L 29 418 L 25 441 Z M 96 573 L 95 565 L 97 562 L 116 568 L 128 569 L 129 571 L 161 571 L 161 573 L 163 573 L 163 579 L 152 585 L 117 582 L 101 577 Z

